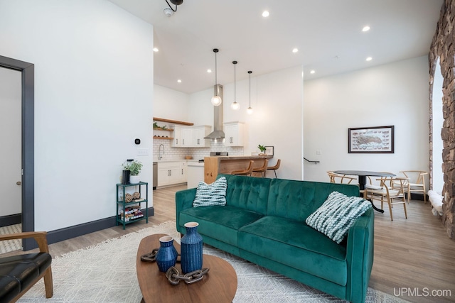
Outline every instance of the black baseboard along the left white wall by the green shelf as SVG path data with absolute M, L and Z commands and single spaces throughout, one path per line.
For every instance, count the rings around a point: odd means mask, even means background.
M 149 207 L 149 216 L 154 216 L 155 209 L 154 207 Z M 143 210 L 145 214 L 145 210 Z M 48 244 L 57 243 L 60 241 L 65 241 L 70 238 L 75 238 L 78 236 L 84 236 L 87 233 L 94 233 L 95 231 L 101 231 L 102 229 L 111 228 L 115 226 L 115 216 L 109 218 L 100 219 L 97 221 L 91 221 L 84 224 L 78 224 L 75 226 L 69 226 L 61 229 L 56 229 L 55 231 L 48 231 Z M 37 248 L 38 246 L 35 243 L 34 247 L 29 249 Z

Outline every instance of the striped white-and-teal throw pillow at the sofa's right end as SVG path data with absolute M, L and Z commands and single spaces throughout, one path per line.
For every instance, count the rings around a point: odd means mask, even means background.
M 348 234 L 355 219 L 362 216 L 370 207 L 371 203 L 363 198 L 332 192 L 305 222 L 339 244 Z

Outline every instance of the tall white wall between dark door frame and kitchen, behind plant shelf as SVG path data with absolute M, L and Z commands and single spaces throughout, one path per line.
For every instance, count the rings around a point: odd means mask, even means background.
M 109 1 L 0 0 L 0 40 L 35 64 L 36 230 L 114 216 L 124 160 L 152 182 L 153 27 Z

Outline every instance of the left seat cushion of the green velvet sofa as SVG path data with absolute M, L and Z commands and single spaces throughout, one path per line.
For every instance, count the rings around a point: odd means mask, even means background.
M 180 223 L 195 221 L 199 223 L 201 235 L 238 246 L 237 233 L 240 227 L 250 224 L 263 215 L 247 209 L 226 206 L 204 206 L 185 209 L 179 214 Z

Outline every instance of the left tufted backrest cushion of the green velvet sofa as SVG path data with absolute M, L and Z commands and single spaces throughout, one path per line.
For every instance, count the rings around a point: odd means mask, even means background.
M 236 175 L 218 175 L 218 177 L 225 177 L 228 181 L 226 205 L 261 214 L 266 213 L 270 179 Z

